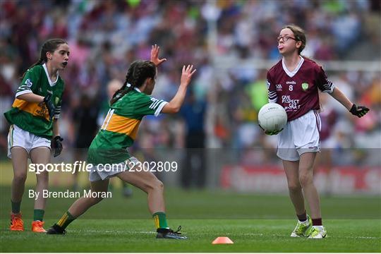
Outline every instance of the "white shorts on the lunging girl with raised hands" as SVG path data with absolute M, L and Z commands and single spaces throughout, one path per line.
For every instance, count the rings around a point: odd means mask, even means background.
M 97 164 L 93 165 L 90 168 L 89 172 L 89 180 L 90 181 L 99 181 L 110 179 L 114 177 L 116 174 L 119 174 L 123 171 L 128 171 L 133 167 L 133 165 L 139 164 L 139 160 L 135 157 L 130 157 L 126 159 L 125 162 L 116 163 L 116 164 Z

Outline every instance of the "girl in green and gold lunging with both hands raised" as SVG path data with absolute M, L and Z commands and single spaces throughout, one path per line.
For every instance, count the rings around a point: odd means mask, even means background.
M 192 65 L 183 66 L 179 90 L 170 102 L 151 97 L 157 77 L 157 66 L 167 59 L 159 59 L 159 47 L 152 46 L 151 61 L 134 61 L 128 68 L 126 80 L 111 99 L 111 106 L 102 127 L 90 145 L 87 162 L 92 164 L 89 180 L 92 193 L 107 193 L 109 179 L 118 177 L 147 193 L 148 208 L 155 221 L 157 238 L 185 239 L 179 230 L 173 231 L 167 224 L 164 204 L 164 186 L 147 169 L 141 168 L 138 159 L 131 156 L 128 147 L 138 133 L 144 116 L 175 114 L 183 104 L 186 90 L 195 73 Z M 107 164 L 112 164 L 111 171 Z M 107 170 L 106 170 L 107 169 Z M 63 217 L 47 234 L 64 234 L 66 226 L 102 200 L 102 196 L 83 197 L 76 200 Z

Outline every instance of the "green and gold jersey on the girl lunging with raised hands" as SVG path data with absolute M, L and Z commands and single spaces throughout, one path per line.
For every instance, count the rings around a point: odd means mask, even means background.
M 131 157 L 127 148 L 133 145 L 143 116 L 159 116 L 165 104 L 164 100 L 150 97 L 137 88 L 114 102 L 92 140 L 88 163 L 120 163 Z

